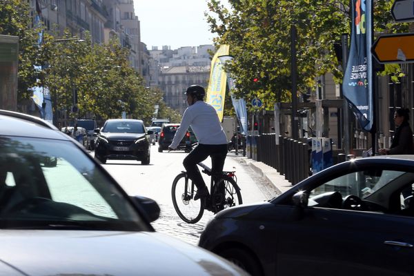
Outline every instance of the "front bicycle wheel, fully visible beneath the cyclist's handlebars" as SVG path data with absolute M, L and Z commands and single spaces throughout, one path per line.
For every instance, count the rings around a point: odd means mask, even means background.
M 186 177 L 184 172 L 175 177 L 172 182 L 171 195 L 175 211 L 188 224 L 195 224 L 204 213 L 204 198 L 194 200 L 197 187 Z

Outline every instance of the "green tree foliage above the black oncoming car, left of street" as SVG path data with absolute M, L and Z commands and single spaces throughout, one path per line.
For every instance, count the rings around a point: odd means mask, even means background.
M 72 118 L 92 114 L 103 120 L 120 118 L 125 111 L 132 118 L 150 121 L 155 98 L 130 67 L 128 49 L 117 41 L 92 44 L 88 33 L 82 41 L 66 34 L 55 40 L 52 52 L 45 84 L 57 110 Z M 77 114 L 70 112 L 74 94 Z

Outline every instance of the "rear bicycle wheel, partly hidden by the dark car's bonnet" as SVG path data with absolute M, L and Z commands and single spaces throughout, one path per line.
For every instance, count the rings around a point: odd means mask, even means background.
M 213 186 L 212 205 L 214 213 L 243 204 L 242 193 L 236 187 L 235 179 L 227 175 L 221 176 Z

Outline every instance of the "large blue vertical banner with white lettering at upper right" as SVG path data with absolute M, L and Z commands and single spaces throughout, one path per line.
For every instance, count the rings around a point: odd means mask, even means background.
M 351 48 L 342 81 L 344 97 L 364 130 L 373 127 L 373 0 L 351 0 Z

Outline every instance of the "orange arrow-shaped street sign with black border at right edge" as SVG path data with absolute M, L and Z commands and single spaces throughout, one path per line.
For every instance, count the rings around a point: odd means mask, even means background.
M 371 47 L 371 52 L 380 63 L 414 62 L 414 33 L 382 35 Z

